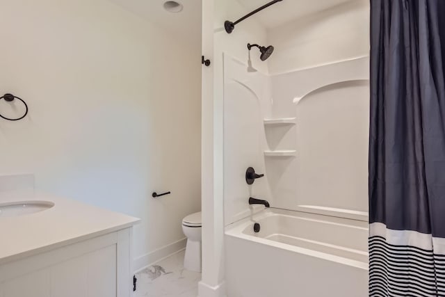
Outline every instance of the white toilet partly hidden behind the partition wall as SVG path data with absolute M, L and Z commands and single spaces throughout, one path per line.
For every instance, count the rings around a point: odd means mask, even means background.
M 188 271 L 201 272 L 201 211 L 186 216 L 182 220 L 182 232 L 187 236 L 184 268 Z

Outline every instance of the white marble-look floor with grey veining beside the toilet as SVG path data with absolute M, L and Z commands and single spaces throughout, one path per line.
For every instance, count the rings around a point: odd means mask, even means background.
M 197 297 L 201 273 L 184 269 L 185 250 L 136 273 L 134 297 Z

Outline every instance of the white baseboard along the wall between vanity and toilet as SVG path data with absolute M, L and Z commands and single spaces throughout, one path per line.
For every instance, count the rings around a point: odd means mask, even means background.
M 184 239 L 180 239 L 179 241 L 175 241 L 167 246 L 163 246 L 162 248 L 133 259 L 133 269 L 135 273 L 159 262 L 161 259 L 184 250 L 184 248 L 186 248 L 186 243 L 187 238 L 185 237 Z

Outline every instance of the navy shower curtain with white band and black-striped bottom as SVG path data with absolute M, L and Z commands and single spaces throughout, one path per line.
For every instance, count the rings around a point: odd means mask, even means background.
M 369 296 L 445 296 L 444 69 L 445 0 L 371 0 Z

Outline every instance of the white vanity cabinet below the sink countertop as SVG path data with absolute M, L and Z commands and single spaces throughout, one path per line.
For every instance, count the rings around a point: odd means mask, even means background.
M 126 227 L 9 259 L 0 264 L 0 297 L 130 297 L 131 231 Z M 2 244 L 10 243 L 0 239 Z

